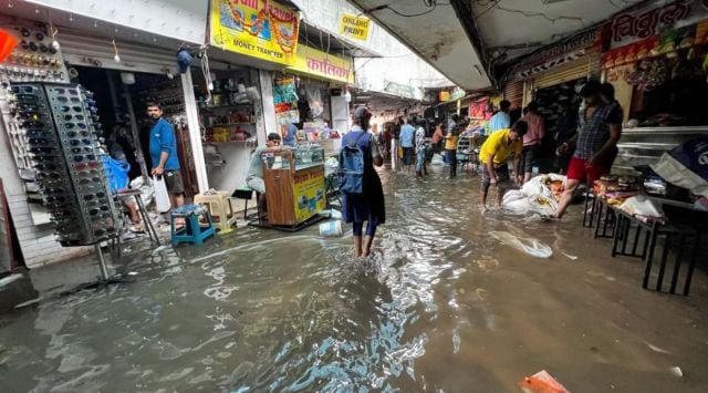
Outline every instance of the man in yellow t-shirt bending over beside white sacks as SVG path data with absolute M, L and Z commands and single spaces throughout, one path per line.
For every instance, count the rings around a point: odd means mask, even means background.
M 482 210 L 487 209 L 487 194 L 489 186 L 497 186 L 502 183 L 500 189 L 497 190 L 498 209 L 501 206 L 501 198 L 508 187 L 504 183 L 509 182 L 509 167 L 507 159 L 510 155 L 514 156 L 513 170 L 516 183 L 520 182 L 519 164 L 521 162 L 521 151 L 523 151 L 523 135 L 529 130 L 529 125 L 524 121 L 514 123 L 511 128 L 498 130 L 491 133 L 487 141 L 482 144 L 479 152 L 479 161 L 482 163 Z

